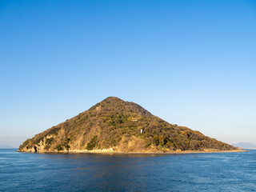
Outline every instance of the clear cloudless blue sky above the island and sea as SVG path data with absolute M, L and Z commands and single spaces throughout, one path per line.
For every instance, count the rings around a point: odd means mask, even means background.
M 0 1 L 0 145 L 108 96 L 256 143 L 256 1 Z

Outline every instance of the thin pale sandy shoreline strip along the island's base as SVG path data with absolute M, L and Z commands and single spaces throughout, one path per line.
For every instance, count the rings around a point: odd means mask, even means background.
M 169 151 L 169 152 L 118 152 L 109 150 L 70 150 L 70 151 L 48 151 L 37 152 L 36 154 L 217 154 L 217 153 L 236 153 L 247 152 L 250 150 L 184 150 L 184 151 Z M 22 153 L 30 153 L 26 151 L 18 151 Z

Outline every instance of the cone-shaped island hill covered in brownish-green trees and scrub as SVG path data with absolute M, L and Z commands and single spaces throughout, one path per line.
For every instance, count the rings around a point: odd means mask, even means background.
M 27 139 L 22 152 L 235 150 L 185 126 L 172 125 L 134 102 L 106 98 L 74 118 Z

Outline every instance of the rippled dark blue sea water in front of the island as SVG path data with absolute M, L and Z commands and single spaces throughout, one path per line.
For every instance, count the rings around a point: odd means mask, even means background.
M 256 150 L 166 155 L 0 150 L 0 191 L 256 191 Z

